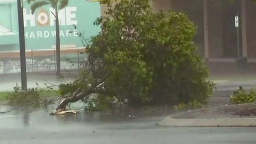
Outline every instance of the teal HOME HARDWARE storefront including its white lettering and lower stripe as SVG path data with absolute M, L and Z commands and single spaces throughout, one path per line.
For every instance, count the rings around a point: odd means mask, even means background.
M 23 5 L 27 56 L 30 56 L 31 50 L 51 51 L 52 54 L 56 37 L 53 8 L 50 5 L 43 6 L 35 14 L 31 14 L 30 4 L 23 0 Z M 85 39 L 90 39 L 100 32 L 100 27 L 93 25 L 96 18 L 101 16 L 100 11 L 99 2 L 69 0 L 69 5 L 59 11 L 62 52 L 70 53 L 72 49 L 85 47 L 78 33 L 84 34 Z M 0 0 L 0 58 L 16 57 L 19 54 L 14 52 L 18 50 L 17 0 Z

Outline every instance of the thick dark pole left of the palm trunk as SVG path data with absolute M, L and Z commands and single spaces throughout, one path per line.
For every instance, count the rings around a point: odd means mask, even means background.
M 18 3 L 18 27 L 20 41 L 20 58 L 21 58 L 21 88 L 27 89 L 27 70 L 26 70 L 26 51 L 24 37 L 24 19 L 23 19 L 23 0 L 17 0 Z

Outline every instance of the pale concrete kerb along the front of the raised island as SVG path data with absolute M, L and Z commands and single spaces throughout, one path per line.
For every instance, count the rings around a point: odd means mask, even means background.
M 256 126 L 256 118 L 174 119 L 167 117 L 158 124 L 174 127 L 248 127 Z

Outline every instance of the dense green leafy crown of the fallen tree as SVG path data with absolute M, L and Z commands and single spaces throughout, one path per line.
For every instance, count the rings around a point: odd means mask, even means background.
M 103 2 L 108 16 L 94 23 L 101 32 L 87 46 L 88 65 L 75 87 L 91 89 L 88 84 L 102 80 L 95 91 L 132 106 L 206 102 L 214 84 L 206 80 L 196 27 L 185 14 L 153 13 L 148 0 Z

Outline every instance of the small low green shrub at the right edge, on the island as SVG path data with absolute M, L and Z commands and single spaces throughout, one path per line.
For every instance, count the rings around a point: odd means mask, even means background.
M 230 96 L 230 101 L 233 104 L 242 104 L 242 103 L 255 103 L 256 102 L 256 92 L 251 89 L 247 94 L 245 89 L 240 87 L 237 91 L 234 91 Z

